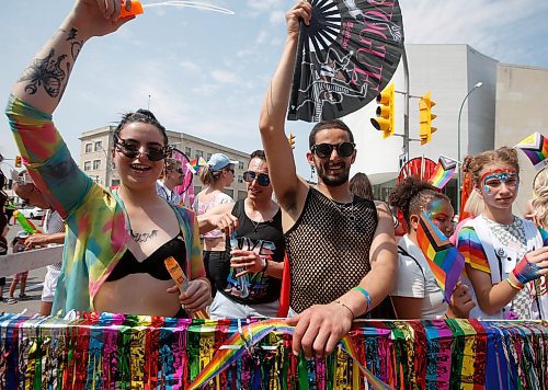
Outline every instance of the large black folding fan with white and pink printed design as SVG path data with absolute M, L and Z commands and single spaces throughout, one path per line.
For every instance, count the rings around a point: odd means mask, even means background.
M 398 0 L 309 0 L 287 118 L 319 122 L 362 108 L 385 89 L 403 51 Z

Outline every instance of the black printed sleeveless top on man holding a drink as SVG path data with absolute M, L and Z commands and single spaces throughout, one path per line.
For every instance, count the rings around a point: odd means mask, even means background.
M 238 200 L 232 209 L 238 217 L 238 246 L 252 250 L 267 261 L 282 263 L 285 255 L 285 239 L 282 231 L 282 211 L 264 222 L 254 222 L 246 214 L 244 200 Z M 227 263 L 227 275 L 224 288 L 219 291 L 238 303 L 260 305 L 279 299 L 282 280 L 259 272 L 236 277 L 236 269 Z M 242 285 L 244 284 L 244 286 Z M 242 294 L 243 291 L 243 294 Z

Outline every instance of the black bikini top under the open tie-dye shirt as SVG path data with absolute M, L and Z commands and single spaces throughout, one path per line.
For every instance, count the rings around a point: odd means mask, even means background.
M 169 256 L 173 256 L 181 268 L 186 269 L 186 246 L 181 231 L 142 262 L 138 262 L 132 251 L 125 251 L 106 282 L 119 280 L 130 274 L 149 274 L 155 279 L 169 280 L 171 276 L 163 263 Z

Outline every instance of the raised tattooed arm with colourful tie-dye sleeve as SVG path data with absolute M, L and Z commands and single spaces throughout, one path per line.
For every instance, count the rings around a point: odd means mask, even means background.
M 5 114 L 36 186 L 62 218 L 98 186 L 78 169 L 55 128 L 59 104 L 83 44 L 109 34 L 134 16 L 118 20 L 119 0 L 79 0 L 54 36 L 23 71 L 12 89 Z M 130 2 L 126 3 L 130 7 Z

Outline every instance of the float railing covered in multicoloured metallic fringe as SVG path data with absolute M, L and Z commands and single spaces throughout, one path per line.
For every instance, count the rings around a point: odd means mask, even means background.
M 0 317 L 2 389 L 548 389 L 546 321 L 356 321 L 326 358 L 283 320 Z

